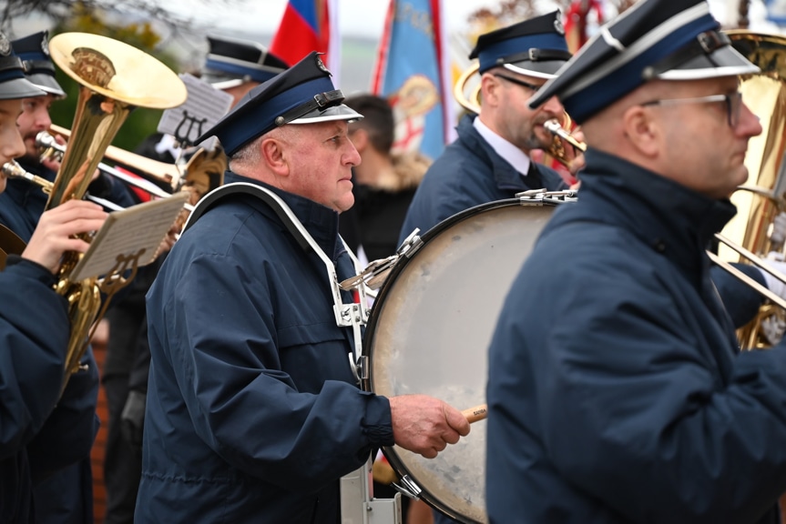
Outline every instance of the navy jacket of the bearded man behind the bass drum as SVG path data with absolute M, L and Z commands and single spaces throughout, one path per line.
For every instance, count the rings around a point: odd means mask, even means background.
M 559 173 L 550 167 L 532 163 L 529 174 L 521 176 L 480 136 L 473 126 L 475 117 L 461 119 L 456 128 L 458 138 L 426 172 L 404 218 L 399 245 L 415 227 L 420 228 L 422 236 L 464 209 L 513 198 L 527 189 L 567 189 Z

